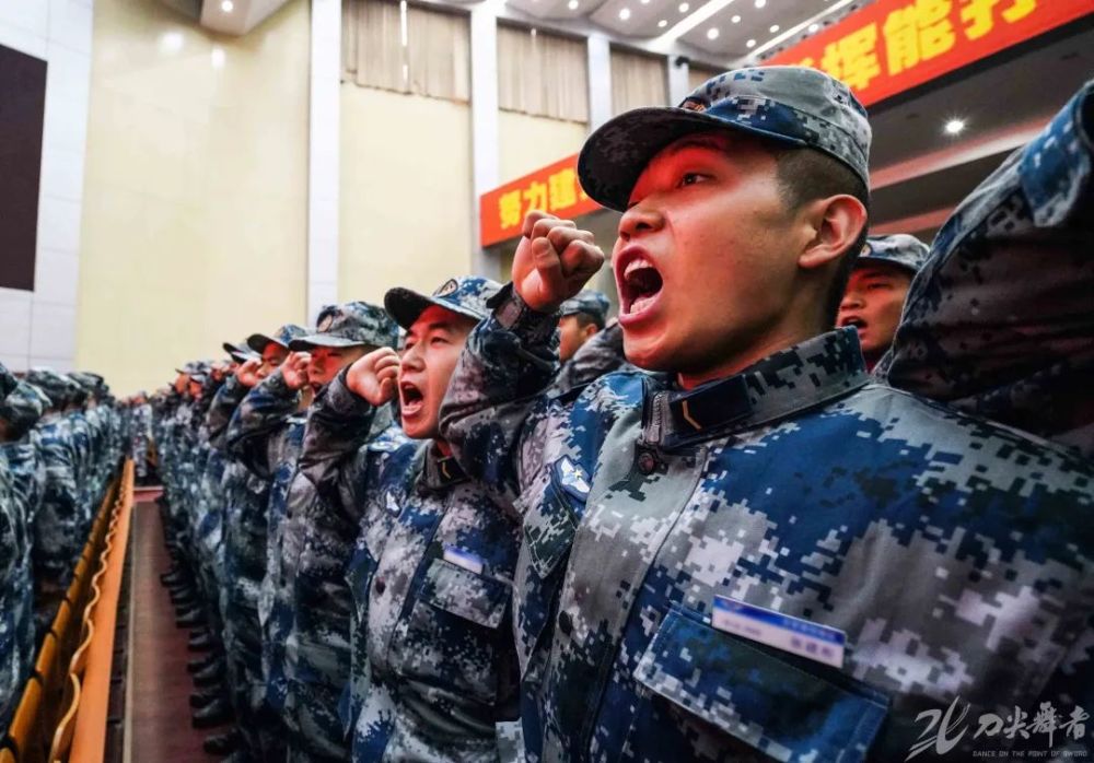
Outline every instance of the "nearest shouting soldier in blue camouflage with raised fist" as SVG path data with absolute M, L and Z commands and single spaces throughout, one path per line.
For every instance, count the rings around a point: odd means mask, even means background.
M 603 255 L 525 222 L 441 433 L 524 512 L 533 758 L 894 761 L 958 697 L 974 718 L 1094 700 L 1094 467 L 873 383 L 828 330 L 869 141 L 850 91 L 794 67 L 600 128 L 579 174 L 624 211 L 626 352 L 659 373 L 575 399 L 535 392 Z

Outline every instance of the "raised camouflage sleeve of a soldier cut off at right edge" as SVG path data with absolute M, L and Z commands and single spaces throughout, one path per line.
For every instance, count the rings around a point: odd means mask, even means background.
M 882 378 L 1094 456 L 1092 146 L 1094 82 L 939 231 Z

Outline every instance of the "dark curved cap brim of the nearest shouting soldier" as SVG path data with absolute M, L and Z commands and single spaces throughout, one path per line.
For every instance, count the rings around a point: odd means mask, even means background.
M 702 111 L 672 106 L 636 108 L 604 122 L 585 141 L 578 157 L 581 187 L 596 203 L 625 212 L 650 160 L 680 138 L 707 130 L 738 130 L 788 145 L 805 145 L 796 138 Z

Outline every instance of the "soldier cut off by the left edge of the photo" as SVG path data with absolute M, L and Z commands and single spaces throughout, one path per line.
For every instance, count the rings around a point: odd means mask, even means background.
M 11 650 L 20 683 L 31 674 L 35 654 L 34 574 L 32 529 L 46 483 L 39 435 L 34 426 L 49 399 L 36 387 L 19 383 L 0 401 L 0 450 L 11 477 L 10 514 L 14 545 L 4 545 L 4 556 L 12 564 L 9 587 L 0 592 L 0 654 Z M 11 639 L 11 646 L 3 642 Z M 5 662 L 0 658 L 0 662 Z

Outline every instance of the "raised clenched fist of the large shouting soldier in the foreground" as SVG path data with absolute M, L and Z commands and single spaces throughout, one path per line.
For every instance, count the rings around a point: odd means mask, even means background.
M 513 287 L 528 307 L 552 313 L 604 265 L 593 234 L 570 220 L 533 210 L 513 257 Z

